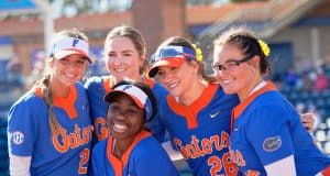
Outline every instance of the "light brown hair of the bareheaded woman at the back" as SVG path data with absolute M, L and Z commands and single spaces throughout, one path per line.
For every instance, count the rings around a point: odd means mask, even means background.
M 147 68 L 147 62 L 144 59 L 145 53 L 146 53 L 146 45 L 144 42 L 144 38 L 142 37 L 141 33 L 132 28 L 132 26 L 127 26 L 127 25 L 121 25 L 112 29 L 105 41 L 105 52 L 107 53 L 107 46 L 109 45 L 109 42 L 118 36 L 124 36 L 128 37 L 132 41 L 135 50 L 139 53 L 140 57 L 143 57 L 143 65 L 140 67 L 140 74 L 144 74 L 146 68 Z

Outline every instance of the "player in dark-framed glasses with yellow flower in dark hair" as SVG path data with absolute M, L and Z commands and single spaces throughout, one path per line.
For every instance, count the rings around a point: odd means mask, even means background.
M 254 175 L 330 175 L 330 158 L 302 127 L 295 108 L 265 80 L 270 47 L 243 28 L 215 42 L 213 68 L 226 94 L 238 94 L 232 113 L 231 155 Z

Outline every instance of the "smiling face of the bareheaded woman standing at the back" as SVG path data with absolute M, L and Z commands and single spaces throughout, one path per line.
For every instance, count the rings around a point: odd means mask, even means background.
M 143 58 L 139 55 L 134 44 L 129 37 L 116 36 L 110 38 L 105 46 L 106 64 L 108 70 L 117 81 L 123 78 L 140 79 L 140 68 Z

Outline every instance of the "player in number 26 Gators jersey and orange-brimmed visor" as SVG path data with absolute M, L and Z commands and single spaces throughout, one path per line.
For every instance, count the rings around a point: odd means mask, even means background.
M 153 55 L 150 77 L 168 89 L 160 114 L 172 143 L 180 151 L 194 175 L 232 175 L 230 116 L 237 96 L 227 96 L 204 74 L 202 57 L 184 37 L 166 40 Z

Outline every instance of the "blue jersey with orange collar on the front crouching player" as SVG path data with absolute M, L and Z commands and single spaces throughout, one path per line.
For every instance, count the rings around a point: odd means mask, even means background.
M 122 158 L 112 154 L 113 138 L 99 142 L 92 150 L 95 176 L 178 176 L 178 173 L 157 140 L 140 132 Z

